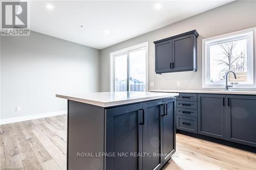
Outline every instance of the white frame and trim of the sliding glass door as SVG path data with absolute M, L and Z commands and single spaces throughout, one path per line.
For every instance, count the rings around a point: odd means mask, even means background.
M 148 41 L 143 42 L 137 45 L 133 45 L 130 47 L 123 48 L 122 50 L 118 50 L 115 52 L 110 53 L 110 92 L 114 92 L 114 73 L 115 73 L 115 57 L 118 57 L 123 54 L 127 54 L 127 60 L 129 59 L 129 53 L 139 50 L 140 48 L 145 48 L 146 51 L 146 91 L 148 91 Z M 129 72 L 130 66 L 129 62 L 127 63 L 127 72 Z M 127 74 L 127 80 L 129 80 Z M 129 81 L 127 82 L 127 91 L 130 91 L 130 84 Z

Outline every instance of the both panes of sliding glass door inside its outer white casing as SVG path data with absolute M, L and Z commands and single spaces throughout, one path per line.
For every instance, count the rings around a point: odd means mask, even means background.
M 146 48 L 114 55 L 114 91 L 146 91 Z

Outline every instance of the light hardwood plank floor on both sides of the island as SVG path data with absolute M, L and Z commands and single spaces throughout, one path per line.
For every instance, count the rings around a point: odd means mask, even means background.
M 66 123 L 66 115 L 59 115 L 1 125 L 0 169 L 66 169 Z M 177 134 L 176 155 L 162 169 L 252 170 L 256 154 Z

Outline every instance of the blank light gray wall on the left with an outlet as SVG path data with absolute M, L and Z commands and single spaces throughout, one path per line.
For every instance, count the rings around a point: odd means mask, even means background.
M 55 94 L 99 91 L 99 55 L 95 48 L 36 32 L 2 36 L 1 118 L 67 110 L 67 101 Z

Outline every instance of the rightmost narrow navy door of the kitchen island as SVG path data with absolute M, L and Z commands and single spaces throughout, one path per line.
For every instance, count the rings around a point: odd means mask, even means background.
M 163 116 L 163 164 L 165 164 L 176 149 L 176 114 L 175 114 L 175 98 L 166 99 Z

